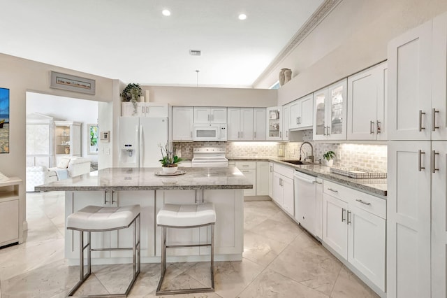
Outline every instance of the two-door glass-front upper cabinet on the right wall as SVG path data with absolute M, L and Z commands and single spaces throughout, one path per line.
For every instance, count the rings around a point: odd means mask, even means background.
M 346 140 L 347 80 L 314 92 L 314 140 Z

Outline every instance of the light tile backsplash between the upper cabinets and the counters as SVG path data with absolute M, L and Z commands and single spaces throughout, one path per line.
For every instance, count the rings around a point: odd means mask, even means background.
M 309 133 L 310 132 L 310 133 Z M 387 146 L 374 144 L 352 144 L 352 143 L 320 143 L 312 141 L 312 130 L 305 131 L 304 141 L 312 143 L 314 149 L 314 160 L 323 160 L 324 152 L 332 150 L 335 152 L 334 166 L 361 167 L 378 171 L 387 170 Z M 285 148 L 285 158 L 298 159 L 300 157 L 300 146 L 302 142 L 277 143 L 265 142 L 181 142 L 173 143 L 180 154 L 186 159 L 192 159 L 194 147 L 225 147 L 226 157 L 237 158 L 268 158 L 277 157 L 279 147 Z M 280 149 L 281 149 L 280 148 Z M 302 159 L 310 155 L 311 148 L 308 144 L 302 146 Z

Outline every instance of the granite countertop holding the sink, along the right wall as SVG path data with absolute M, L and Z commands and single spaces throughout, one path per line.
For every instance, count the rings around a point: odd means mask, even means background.
M 327 180 L 332 180 L 336 183 L 346 185 L 349 187 L 357 188 L 358 190 L 364 190 L 372 194 L 379 195 L 381 197 L 386 197 L 387 194 L 387 182 L 386 178 L 376 178 L 376 179 L 356 179 L 336 173 L 331 173 L 329 171 L 329 166 L 323 166 L 322 164 L 290 164 L 288 162 L 283 162 L 284 158 L 270 158 L 271 162 L 278 162 L 279 164 L 284 164 L 286 166 L 291 166 L 302 173 L 307 173 L 312 176 L 320 177 Z M 291 159 L 288 159 L 291 160 Z

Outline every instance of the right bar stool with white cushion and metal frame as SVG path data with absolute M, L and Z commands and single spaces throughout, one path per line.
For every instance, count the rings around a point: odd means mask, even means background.
M 161 277 L 159 285 L 156 288 L 155 295 L 175 295 L 175 294 L 189 294 L 199 292 L 214 292 L 214 224 L 216 223 L 216 211 L 214 211 L 214 204 L 205 203 L 199 205 L 177 205 L 165 204 L 163 208 L 156 215 L 156 223 L 162 227 L 161 233 Z M 206 244 L 191 244 L 191 245 L 166 245 L 166 228 L 193 228 L 211 226 L 211 243 Z M 211 287 L 210 288 L 190 288 L 178 290 L 160 290 L 163 284 L 163 278 L 166 274 L 166 248 L 184 248 L 208 246 L 211 247 Z

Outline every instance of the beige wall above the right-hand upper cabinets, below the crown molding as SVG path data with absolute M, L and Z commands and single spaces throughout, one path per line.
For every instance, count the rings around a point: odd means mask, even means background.
M 446 10 L 446 0 L 343 0 L 255 87 L 291 69 L 292 80 L 278 90 L 286 104 L 386 60 L 388 41 Z

